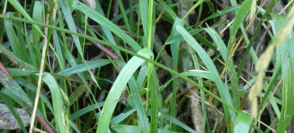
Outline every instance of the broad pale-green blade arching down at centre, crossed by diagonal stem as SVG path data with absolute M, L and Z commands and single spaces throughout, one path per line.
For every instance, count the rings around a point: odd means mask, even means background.
M 138 54 L 141 54 L 142 56 L 145 56 L 147 58 L 150 58 L 153 55 L 150 49 L 148 48 L 140 50 Z M 128 61 L 126 66 L 123 67 L 121 72 L 118 74 L 118 77 L 116 78 L 116 81 L 113 83 L 113 86 L 111 87 L 108 96 L 105 100 L 105 106 L 103 106 L 101 110 L 100 119 L 103 119 L 103 121 L 98 122 L 96 132 L 107 132 L 111 116 L 119 100 L 119 97 L 121 96 L 121 93 L 123 92 L 123 89 L 126 86 L 126 83 L 131 78 L 136 69 L 138 69 L 138 67 L 143 63 L 143 59 L 133 57 Z

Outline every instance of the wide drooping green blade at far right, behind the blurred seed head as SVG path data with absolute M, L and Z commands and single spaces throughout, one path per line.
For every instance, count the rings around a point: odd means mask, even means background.
M 277 36 L 278 31 L 287 26 L 285 25 L 285 22 L 287 21 L 285 21 L 284 16 L 271 13 L 270 15 L 273 19 L 270 21 L 270 24 L 272 25 L 274 35 Z M 294 50 L 294 38 L 291 37 L 294 34 L 293 28 L 291 28 L 289 31 L 290 35 L 285 35 L 286 40 L 284 43 L 280 44 L 280 46 L 276 46 L 277 56 L 280 57 L 281 61 L 283 77 L 283 106 L 276 132 L 284 132 L 294 114 L 294 110 L 291 107 L 293 105 L 292 101 L 294 101 L 294 97 L 291 96 L 291 94 L 294 94 L 294 55 L 292 54 Z

